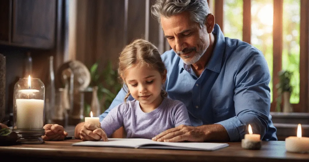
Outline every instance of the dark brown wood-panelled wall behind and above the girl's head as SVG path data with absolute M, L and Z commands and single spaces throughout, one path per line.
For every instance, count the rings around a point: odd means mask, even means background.
M 90 67 L 108 60 L 117 68 L 118 55 L 133 39 L 154 43 L 162 53 L 170 49 L 163 38 L 150 7 L 155 0 L 88 0 L 77 1 L 76 59 Z

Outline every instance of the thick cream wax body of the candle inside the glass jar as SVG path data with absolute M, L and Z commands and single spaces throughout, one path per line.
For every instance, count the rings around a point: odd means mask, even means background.
M 17 129 L 43 128 L 44 100 L 16 99 Z

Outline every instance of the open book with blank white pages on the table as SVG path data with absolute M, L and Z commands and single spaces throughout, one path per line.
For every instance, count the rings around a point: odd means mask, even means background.
M 143 138 L 108 138 L 104 141 L 84 141 L 73 143 L 73 146 L 101 146 L 101 147 L 128 147 L 128 148 L 155 148 L 177 150 L 214 151 L 228 147 L 227 143 L 208 142 L 157 142 Z

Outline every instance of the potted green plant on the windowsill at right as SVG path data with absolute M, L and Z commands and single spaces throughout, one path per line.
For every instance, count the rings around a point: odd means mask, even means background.
M 293 87 L 290 84 L 293 72 L 288 70 L 282 70 L 279 72 L 279 83 L 276 85 L 278 98 L 276 104 L 276 111 L 281 112 L 281 103 L 283 98 L 283 112 L 293 112 L 293 107 L 290 104 L 290 95 L 293 91 Z

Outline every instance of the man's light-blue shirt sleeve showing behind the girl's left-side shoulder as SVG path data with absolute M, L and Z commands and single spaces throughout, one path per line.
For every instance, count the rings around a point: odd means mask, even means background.
M 116 107 L 117 105 L 119 105 L 120 103 L 123 103 L 125 102 L 125 96 L 127 95 L 127 90 L 125 88 L 126 86 L 124 85 L 121 90 L 118 92 L 118 94 L 116 95 L 116 98 L 113 100 L 112 104 L 108 107 L 108 109 L 102 113 L 101 115 L 99 115 L 99 120 L 102 121 L 106 116 L 107 114 L 114 108 Z M 132 101 L 133 100 L 133 97 L 130 95 L 128 97 L 129 101 Z

